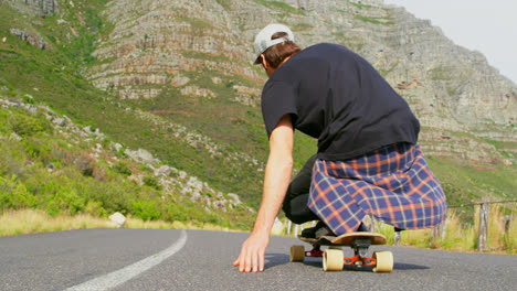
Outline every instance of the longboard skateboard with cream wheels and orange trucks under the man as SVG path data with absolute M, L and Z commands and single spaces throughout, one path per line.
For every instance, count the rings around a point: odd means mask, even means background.
M 291 247 L 291 261 L 304 261 L 305 257 L 321 257 L 324 271 L 341 271 L 344 266 L 361 268 L 371 266 L 373 272 L 391 272 L 393 270 L 393 255 L 391 251 L 374 251 L 368 258 L 371 245 L 386 245 L 386 237 L 374 233 L 351 233 L 338 237 L 323 236 L 306 238 L 298 236 L 305 242 L 313 245 L 313 249 L 305 251 L 304 246 Z M 321 246 L 329 248 L 321 250 Z M 354 249 L 354 257 L 345 258 L 341 247 Z

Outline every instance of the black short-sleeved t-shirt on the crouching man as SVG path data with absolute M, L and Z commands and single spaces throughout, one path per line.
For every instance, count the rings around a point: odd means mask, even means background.
M 318 139 L 318 158 L 348 160 L 397 142 L 416 143 L 420 123 L 408 103 L 345 46 L 309 46 L 281 65 L 262 91 L 267 136 L 291 115 Z

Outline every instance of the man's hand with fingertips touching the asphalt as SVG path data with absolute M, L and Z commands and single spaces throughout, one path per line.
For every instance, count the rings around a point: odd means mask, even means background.
M 241 248 L 241 255 L 233 262 L 241 272 L 264 271 L 264 254 L 270 244 L 270 235 L 252 233 Z

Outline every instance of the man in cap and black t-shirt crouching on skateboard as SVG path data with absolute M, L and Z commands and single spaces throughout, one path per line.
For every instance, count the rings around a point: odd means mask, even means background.
M 256 35 L 255 52 L 270 77 L 262 93 L 270 157 L 253 231 L 233 263 L 240 271 L 264 270 L 282 205 L 297 224 L 319 220 L 307 237 L 367 230 L 367 215 L 399 229 L 445 219 L 445 195 L 416 143 L 420 123 L 367 61 L 336 44 L 302 51 L 282 24 Z M 318 152 L 289 184 L 294 129 L 318 139 Z

